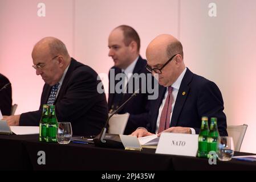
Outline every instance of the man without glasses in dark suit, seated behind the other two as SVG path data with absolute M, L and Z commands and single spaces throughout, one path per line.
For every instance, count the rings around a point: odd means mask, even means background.
M 116 27 L 109 35 L 108 47 L 108 55 L 112 57 L 115 63 L 114 67 L 109 71 L 108 110 L 109 113 L 112 113 L 136 91 L 135 82 L 140 80 L 132 75 L 135 73 L 140 75 L 149 72 L 145 68 L 147 61 L 139 55 L 139 35 L 132 27 L 126 25 Z M 124 81 L 124 88 L 122 87 L 122 92 L 118 93 L 115 88 L 119 80 L 115 80 L 115 77 L 117 74 L 120 75 L 120 73 L 123 73 L 124 76 L 121 79 L 121 81 Z M 130 114 L 124 134 L 131 134 L 137 127 L 145 127 L 147 125 L 149 113 L 148 92 L 142 93 L 141 85 L 140 83 L 140 93 L 127 102 L 123 109 L 117 113 Z M 129 88 L 132 92 L 129 92 Z

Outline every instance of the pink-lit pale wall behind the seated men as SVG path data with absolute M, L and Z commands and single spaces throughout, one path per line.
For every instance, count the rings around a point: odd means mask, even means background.
M 38 17 L 38 3 L 46 16 Z M 209 3 L 217 16 L 208 15 Z M 249 125 L 241 151 L 256 153 L 256 1 L 254 0 L 0 0 L 0 72 L 13 85 L 17 114 L 39 107 L 43 80 L 31 67 L 31 51 L 44 36 L 55 36 L 70 55 L 98 73 L 108 73 L 109 32 L 135 28 L 141 56 L 155 36 L 167 33 L 184 45 L 185 64 L 216 82 L 228 125 Z M 107 80 L 104 80 L 107 89 Z

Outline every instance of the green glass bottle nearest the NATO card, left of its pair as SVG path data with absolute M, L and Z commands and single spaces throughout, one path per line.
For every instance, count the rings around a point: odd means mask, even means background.
M 207 158 L 207 137 L 209 134 L 208 117 L 202 117 L 201 130 L 198 137 L 198 158 Z

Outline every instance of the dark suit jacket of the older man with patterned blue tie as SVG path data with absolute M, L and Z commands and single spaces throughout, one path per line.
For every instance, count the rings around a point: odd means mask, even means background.
M 74 135 L 97 135 L 107 120 L 105 93 L 97 92 L 97 73 L 87 65 L 71 59 L 59 94 L 55 100 L 58 121 L 71 122 Z M 51 86 L 44 84 L 38 111 L 21 114 L 19 124 L 38 126 L 42 105 L 47 103 Z

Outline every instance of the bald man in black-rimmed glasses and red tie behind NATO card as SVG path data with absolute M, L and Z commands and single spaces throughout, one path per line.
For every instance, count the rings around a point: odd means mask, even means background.
M 159 76 L 159 97 L 151 102 L 151 121 L 132 133 L 137 137 L 162 132 L 198 134 L 201 117 L 216 117 L 226 136 L 224 101 L 218 86 L 192 73 L 183 60 L 182 44 L 172 35 L 159 35 L 146 51 L 147 69 Z

